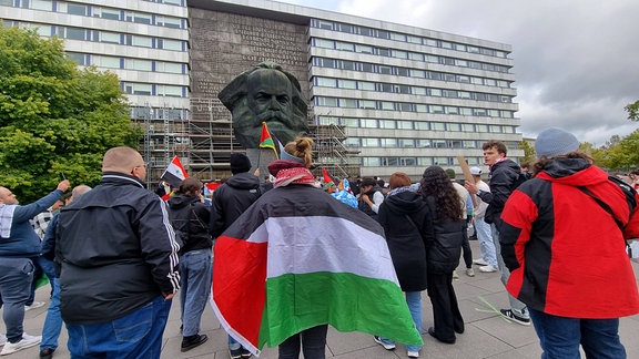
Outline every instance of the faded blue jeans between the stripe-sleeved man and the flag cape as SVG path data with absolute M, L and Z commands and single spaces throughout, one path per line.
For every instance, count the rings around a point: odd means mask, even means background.
M 212 270 L 210 248 L 186 252 L 180 257 L 180 309 L 184 337 L 200 332 L 200 319 L 211 295 Z

